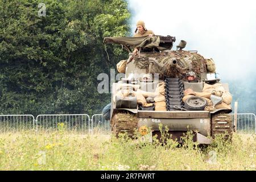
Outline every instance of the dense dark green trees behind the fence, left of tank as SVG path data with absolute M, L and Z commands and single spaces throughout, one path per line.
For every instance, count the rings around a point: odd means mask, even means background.
M 99 113 L 97 75 L 127 55 L 105 36 L 129 35 L 122 0 L 0 0 L 0 114 Z

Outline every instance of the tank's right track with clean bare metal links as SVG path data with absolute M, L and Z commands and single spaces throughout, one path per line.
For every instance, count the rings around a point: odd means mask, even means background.
M 232 128 L 233 128 L 233 123 L 232 123 L 231 115 L 218 113 L 212 116 L 211 133 L 213 138 L 216 134 L 226 133 L 227 134 L 226 139 L 228 139 L 228 137 L 232 135 L 232 131 L 233 131 Z

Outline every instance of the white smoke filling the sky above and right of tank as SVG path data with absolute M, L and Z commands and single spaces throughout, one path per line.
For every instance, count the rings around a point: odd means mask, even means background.
M 256 76 L 256 1 L 238 0 L 129 0 L 137 20 L 156 35 L 187 41 L 186 50 L 212 58 L 221 78 Z M 255 78 L 253 78 L 255 79 Z

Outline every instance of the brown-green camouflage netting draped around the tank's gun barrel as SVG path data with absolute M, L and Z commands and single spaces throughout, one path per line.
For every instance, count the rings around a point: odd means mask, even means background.
M 201 73 L 207 72 L 206 61 L 199 53 L 188 51 L 166 51 L 147 52 L 134 56 L 135 64 L 138 68 L 147 68 L 148 73 L 159 73 L 159 77 L 181 77 L 185 78 L 185 73 L 193 71 L 197 78 L 201 78 Z M 173 61 L 177 64 L 174 65 Z

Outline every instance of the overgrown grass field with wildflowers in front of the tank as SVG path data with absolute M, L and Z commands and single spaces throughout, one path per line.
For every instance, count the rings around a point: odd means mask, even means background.
M 177 147 L 154 140 L 144 144 L 108 135 L 0 134 L 0 170 L 254 170 L 256 136 L 233 135 L 232 142 L 221 137 L 200 147 L 185 138 Z

